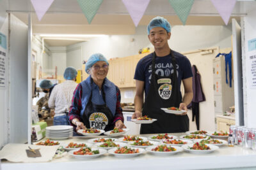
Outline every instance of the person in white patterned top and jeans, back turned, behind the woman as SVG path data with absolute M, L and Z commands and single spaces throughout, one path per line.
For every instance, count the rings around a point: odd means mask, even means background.
M 55 109 L 53 125 L 69 125 L 68 111 L 77 87 L 77 71 L 74 67 L 67 67 L 63 76 L 65 81 L 54 87 L 48 101 L 49 108 Z

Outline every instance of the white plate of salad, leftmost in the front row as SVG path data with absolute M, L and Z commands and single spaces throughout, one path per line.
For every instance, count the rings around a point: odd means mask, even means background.
M 68 152 L 69 155 L 75 157 L 76 159 L 92 159 L 99 157 L 100 155 L 104 155 L 105 153 L 107 153 L 107 150 L 90 147 L 70 150 L 70 152 Z

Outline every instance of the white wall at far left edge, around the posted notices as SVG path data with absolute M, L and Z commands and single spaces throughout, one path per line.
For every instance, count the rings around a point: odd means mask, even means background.
M 1 18 L 1 20 L 4 20 L 3 24 L 0 24 L 0 32 L 1 34 L 4 34 L 7 39 L 7 45 L 8 45 L 8 17 L 7 14 L 4 16 L 5 18 Z M 1 27 L 2 25 L 2 27 Z M 3 48 L 2 48 L 3 49 Z M 0 46 L 1 50 L 1 46 Z M 4 49 L 5 50 L 5 49 Z M 2 50 L 1 50 L 2 51 Z M 8 49 L 6 49 L 6 57 L 5 57 L 5 64 L 6 64 L 6 85 L 5 88 L 0 89 L 0 148 L 4 146 L 6 143 L 8 143 L 8 89 L 9 89 L 9 55 L 8 55 Z

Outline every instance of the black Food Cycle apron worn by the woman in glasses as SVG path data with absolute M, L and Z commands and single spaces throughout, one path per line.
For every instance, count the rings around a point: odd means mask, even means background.
M 109 110 L 108 106 L 106 105 L 106 97 L 105 97 L 105 92 L 103 90 L 103 85 L 102 85 L 102 98 L 105 104 L 99 105 L 99 104 L 92 103 L 92 92 L 91 92 L 91 96 L 84 110 L 82 120 L 86 128 L 94 127 L 95 129 L 111 131 L 115 127 L 115 125 L 112 124 L 114 117 L 111 111 Z

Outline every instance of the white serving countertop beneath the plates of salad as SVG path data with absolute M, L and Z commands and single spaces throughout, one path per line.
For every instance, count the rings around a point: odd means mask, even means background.
M 152 134 L 150 134 L 152 135 Z M 141 136 L 150 136 L 141 135 Z M 173 134 L 180 136 L 182 134 Z M 103 136 L 102 136 L 103 137 Z M 118 137 L 120 138 L 120 136 Z M 74 137 L 60 141 L 86 142 L 87 137 Z M 187 152 L 177 153 L 168 157 L 158 157 L 143 153 L 133 158 L 118 158 L 106 153 L 96 159 L 80 160 L 65 155 L 61 159 L 54 159 L 44 163 L 12 163 L 3 161 L 1 170 L 7 169 L 214 169 L 232 167 L 256 167 L 256 151 L 244 149 L 241 146 L 221 146 L 219 150 L 204 155 Z

